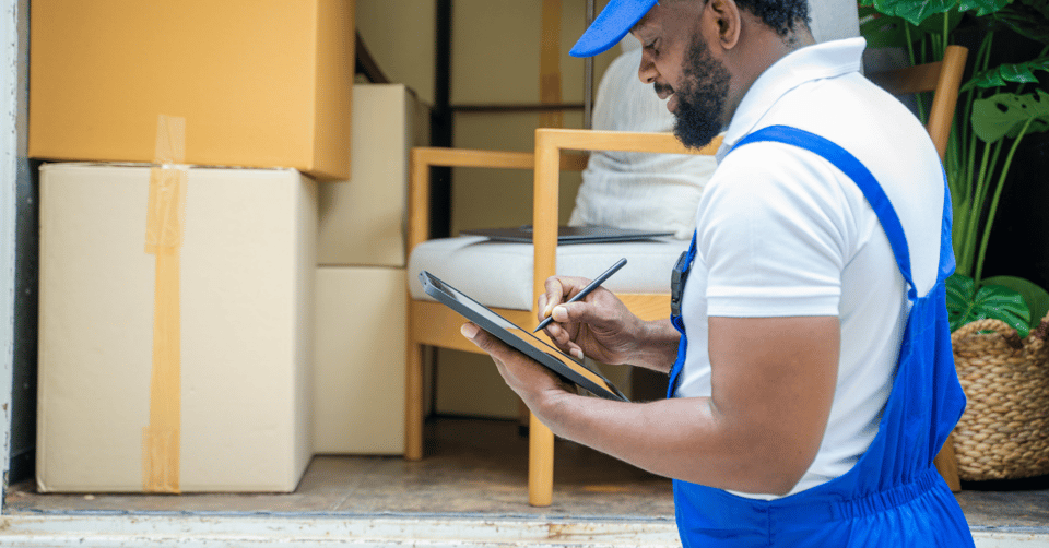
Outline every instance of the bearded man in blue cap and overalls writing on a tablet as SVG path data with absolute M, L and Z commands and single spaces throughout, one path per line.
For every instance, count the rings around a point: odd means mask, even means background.
M 573 50 L 632 32 L 677 138 L 726 131 L 672 321 L 604 290 L 565 305 L 578 278 L 540 299 L 559 347 L 669 372 L 672 397 L 580 396 L 462 332 L 554 433 L 674 478 L 685 546 L 971 546 L 932 467 L 964 406 L 939 157 L 858 73 L 863 40 L 808 24 L 804 0 L 612 0 Z

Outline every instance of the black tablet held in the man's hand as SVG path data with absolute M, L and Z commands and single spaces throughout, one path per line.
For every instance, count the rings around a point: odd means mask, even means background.
M 479 327 L 495 335 L 496 338 L 521 354 L 546 366 L 569 382 L 597 396 L 622 402 L 629 401 L 620 392 L 620 389 L 615 388 L 601 373 L 587 367 L 582 361 L 551 346 L 545 341 L 532 335 L 528 330 L 518 327 L 514 322 L 493 312 L 490 308 L 441 282 L 433 274 L 423 271 L 419 274 L 419 279 L 422 282 L 426 295 L 459 312 L 467 320 L 478 324 Z

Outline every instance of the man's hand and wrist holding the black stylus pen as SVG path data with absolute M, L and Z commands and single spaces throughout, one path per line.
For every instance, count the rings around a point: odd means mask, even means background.
M 539 320 L 553 315 L 543 331 L 563 352 L 604 364 L 630 364 L 669 371 L 677 352 L 677 332 L 670 322 L 645 322 L 612 291 L 599 287 L 582 300 L 566 303 L 590 281 L 552 276 L 539 297 Z

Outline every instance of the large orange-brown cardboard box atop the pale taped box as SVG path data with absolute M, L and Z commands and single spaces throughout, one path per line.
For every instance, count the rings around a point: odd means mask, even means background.
M 154 162 L 157 116 L 186 163 L 350 176 L 353 0 L 33 0 L 34 158 Z

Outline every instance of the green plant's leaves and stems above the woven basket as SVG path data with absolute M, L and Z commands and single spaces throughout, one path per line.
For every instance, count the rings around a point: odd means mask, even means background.
M 860 0 L 861 32 L 871 47 L 900 47 L 912 64 L 938 61 L 958 34 L 976 31 L 973 74 L 962 85 L 944 168 L 954 214 L 956 273 L 947 281 L 952 331 L 999 319 L 1021 337 L 1049 310 L 1049 294 L 1015 276 L 983 278 L 983 261 L 1006 176 L 1026 135 L 1049 130 L 1049 0 Z M 1042 48 L 1033 58 L 992 64 L 1001 35 Z M 1001 48 L 1001 46 L 999 46 Z M 924 117 L 922 98 L 917 103 Z

